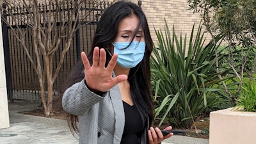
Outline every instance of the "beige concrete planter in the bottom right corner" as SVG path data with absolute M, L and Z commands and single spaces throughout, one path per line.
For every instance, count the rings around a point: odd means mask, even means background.
M 256 144 L 256 113 L 231 109 L 210 113 L 209 144 Z

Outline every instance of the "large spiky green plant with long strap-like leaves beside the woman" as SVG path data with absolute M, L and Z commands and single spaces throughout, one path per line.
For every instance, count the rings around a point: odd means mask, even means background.
M 215 66 L 216 59 L 220 57 L 214 51 L 220 45 L 213 42 L 205 45 L 202 26 L 196 33 L 194 28 L 188 45 L 186 36 L 182 40 L 180 34 L 178 40 L 174 27 L 173 33 L 170 33 L 166 21 L 165 33 L 155 29 L 158 42 L 150 64 L 159 126 L 167 120 L 174 127 L 189 127 L 207 106 L 218 102 L 216 95 L 230 101 L 229 97 L 218 92 L 220 88 L 213 88 L 221 81 Z M 221 38 L 216 36 L 216 42 Z

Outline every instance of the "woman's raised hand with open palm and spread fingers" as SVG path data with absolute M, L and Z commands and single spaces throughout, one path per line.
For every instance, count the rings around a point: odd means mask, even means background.
M 106 52 L 104 49 L 99 49 L 99 47 L 95 47 L 93 50 L 92 67 L 84 52 L 81 53 L 81 58 L 84 65 L 86 84 L 93 92 L 106 92 L 116 84 L 127 79 L 126 75 L 112 77 L 112 72 L 117 61 L 117 54 L 113 54 L 107 67 L 105 67 Z

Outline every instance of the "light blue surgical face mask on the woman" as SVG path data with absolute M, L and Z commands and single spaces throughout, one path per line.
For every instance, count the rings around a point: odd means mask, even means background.
M 133 68 L 144 57 L 145 42 L 114 42 L 114 53 L 118 54 L 117 63 L 124 68 Z M 129 47 L 128 47 L 129 45 Z

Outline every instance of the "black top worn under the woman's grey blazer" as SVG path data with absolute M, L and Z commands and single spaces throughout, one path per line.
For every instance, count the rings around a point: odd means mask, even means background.
M 143 125 L 138 108 L 135 105 L 130 106 L 123 101 L 125 113 L 124 133 L 122 136 L 121 144 L 136 144 L 140 143 L 141 134 L 144 131 Z

